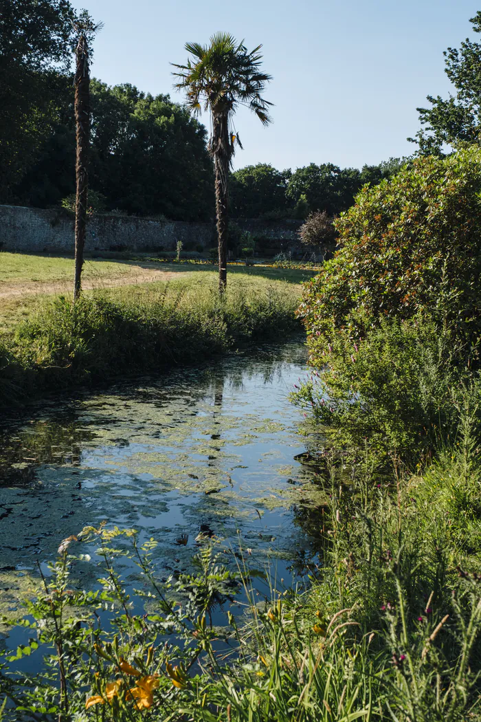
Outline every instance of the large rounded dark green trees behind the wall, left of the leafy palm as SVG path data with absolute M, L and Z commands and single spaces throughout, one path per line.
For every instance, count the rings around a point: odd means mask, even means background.
M 107 209 L 128 214 L 209 220 L 213 212 L 206 130 L 168 95 L 153 97 L 130 84 L 92 80 L 89 184 Z M 18 188 L 35 206 L 56 204 L 74 192 L 72 98 L 59 99 L 63 124 L 41 149 Z

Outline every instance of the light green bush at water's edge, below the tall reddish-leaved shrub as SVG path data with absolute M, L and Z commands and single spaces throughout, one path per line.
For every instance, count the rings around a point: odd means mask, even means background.
M 357 342 L 333 334 L 316 356 L 322 372 L 295 397 L 336 448 L 368 439 L 380 457 L 395 453 L 412 466 L 452 443 L 464 384 L 481 399 L 481 386 L 456 367 L 458 352 L 453 334 L 433 323 L 383 319 Z

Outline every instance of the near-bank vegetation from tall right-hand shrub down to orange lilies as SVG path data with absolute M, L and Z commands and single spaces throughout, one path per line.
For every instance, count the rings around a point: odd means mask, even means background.
M 306 516 L 319 545 L 309 588 L 273 580 L 259 598 L 248 549 L 232 569 L 208 538 L 197 576 L 160 583 L 155 541 L 84 530 L 102 593 L 74 588 L 81 548 L 64 541 L 26 610 L 34 642 L 6 661 L 40 640 L 53 645 L 49 671 L 4 668 L 10 703 L 92 720 L 481 719 L 480 163 L 478 149 L 419 160 L 363 191 L 337 223 L 340 250 L 305 287 L 314 369 L 294 401 L 329 497 Z M 119 554 L 149 596 L 128 598 Z M 245 614 L 212 625 L 242 589 Z M 100 625 L 94 612 L 112 604 L 113 624 Z

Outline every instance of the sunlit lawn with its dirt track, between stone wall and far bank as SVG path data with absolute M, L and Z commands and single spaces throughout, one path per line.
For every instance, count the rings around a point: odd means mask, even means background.
M 270 287 L 299 297 L 301 283 L 312 271 L 274 269 L 268 266 L 229 266 L 228 284 L 234 289 L 266 292 Z M 0 253 L 0 333 L 9 333 L 32 311 L 48 305 L 53 297 L 70 297 L 74 279 L 73 258 Z M 215 266 L 166 264 L 147 259 L 112 261 L 87 259 L 82 275 L 87 295 L 102 294 L 112 300 L 149 302 L 160 293 L 182 303 L 216 290 Z

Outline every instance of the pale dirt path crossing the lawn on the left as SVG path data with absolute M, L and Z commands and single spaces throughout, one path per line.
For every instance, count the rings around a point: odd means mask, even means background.
M 159 269 L 144 269 L 141 266 L 131 266 L 130 271 L 122 276 L 88 276 L 82 282 L 84 290 L 112 288 L 115 286 L 133 286 L 138 283 L 151 283 L 154 281 L 167 281 L 179 277 L 175 271 L 161 271 Z M 0 298 L 14 298 L 40 293 L 68 293 L 72 290 L 74 277 L 58 279 L 57 281 L 0 281 Z

